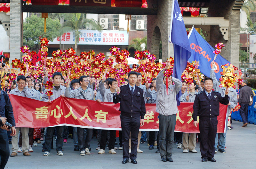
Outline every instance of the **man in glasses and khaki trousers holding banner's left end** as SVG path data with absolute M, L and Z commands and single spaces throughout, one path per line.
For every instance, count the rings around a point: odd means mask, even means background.
M 17 77 L 18 87 L 11 90 L 10 94 L 18 95 L 22 97 L 33 98 L 34 94 L 33 91 L 28 88 L 28 83 L 26 83 L 26 77 L 20 75 Z M 9 94 L 9 92 L 7 92 Z M 29 148 L 29 139 L 28 139 L 28 127 L 16 127 L 16 134 L 12 136 L 12 154 L 11 157 L 17 156 L 17 152 L 19 149 L 18 141 L 19 141 L 19 131 L 21 130 L 22 133 L 22 152 L 24 156 L 31 156 L 28 152 Z

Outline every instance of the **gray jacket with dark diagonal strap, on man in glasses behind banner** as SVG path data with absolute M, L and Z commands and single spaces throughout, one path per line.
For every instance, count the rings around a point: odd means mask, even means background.
M 75 99 L 84 99 L 83 95 L 81 95 L 80 92 L 82 92 L 82 94 L 84 95 L 86 100 L 93 100 L 93 98 L 94 98 L 93 90 L 91 88 L 87 87 L 87 91 L 84 92 L 84 90 L 82 89 L 81 86 L 78 89 L 75 89 L 75 90 L 71 90 L 71 88 L 66 88 L 65 97 L 75 98 Z

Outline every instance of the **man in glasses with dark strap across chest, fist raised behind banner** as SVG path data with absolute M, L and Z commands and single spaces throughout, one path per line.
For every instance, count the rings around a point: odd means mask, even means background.
M 81 86 L 78 89 L 71 90 L 69 83 L 70 80 L 66 80 L 67 88 L 65 90 L 65 97 L 68 98 L 76 98 L 76 99 L 84 99 L 84 100 L 93 100 L 94 98 L 94 92 L 91 88 L 88 88 L 89 80 L 87 76 L 81 76 L 79 78 L 79 83 Z M 100 102 L 100 99 L 97 100 L 97 102 Z M 78 147 L 80 150 L 80 155 L 84 156 L 85 154 L 91 154 L 89 151 L 91 139 L 92 139 L 92 130 L 93 129 L 84 129 L 77 127 L 77 136 L 78 136 Z M 86 137 L 85 132 L 86 130 Z

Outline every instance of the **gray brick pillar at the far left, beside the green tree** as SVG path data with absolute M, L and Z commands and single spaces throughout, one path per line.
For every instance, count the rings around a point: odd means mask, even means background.
M 10 1 L 10 61 L 20 59 L 20 47 L 23 44 L 23 15 L 21 1 Z

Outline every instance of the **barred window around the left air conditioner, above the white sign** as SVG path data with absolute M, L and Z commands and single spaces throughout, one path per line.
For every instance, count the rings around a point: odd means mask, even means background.
M 100 18 L 108 18 L 108 30 L 119 30 L 119 15 L 118 14 L 98 14 L 98 22 Z

